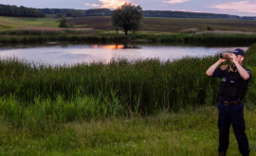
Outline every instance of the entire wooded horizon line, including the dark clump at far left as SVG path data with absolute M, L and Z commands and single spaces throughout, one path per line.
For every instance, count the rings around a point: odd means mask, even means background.
M 85 16 L 112 16 L 111 9 L 31 9 L 0 4 L 0 16 L 14 17 L 46 17 L 46 14 L 56 14 L 57 17 L 85 17 Z M 171 17 L 171 18 L 206 18 L 206 19 L 233 19 L 256 20 L 253 16 L 237 16 L 229 14 L 186 12 L 173 10 L 143 10 L 144 17 Z

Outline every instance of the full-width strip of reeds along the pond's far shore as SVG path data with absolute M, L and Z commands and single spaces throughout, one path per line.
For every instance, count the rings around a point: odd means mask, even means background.
M 197 45 L 251 45 L 256 43 L 256 34 L 239 33 L 191 33 L 157 34 L 141 32 L 137 34 L 117 35 L 113 32 L 95 30 L 41 31 L 15 30 L 0 34 L 0 43 L 46 43 L 46 42 L 78 42 L 78 43 L 184 43 Z

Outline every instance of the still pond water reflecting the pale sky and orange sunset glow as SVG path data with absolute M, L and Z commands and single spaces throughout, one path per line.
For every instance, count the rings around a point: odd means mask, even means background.
M 159 59 L 172 61 L 183 57 L 206 57 L 221 52 L 232 51 L 236 47 L 202 47 L 174 45 L 124 45 L 124 44 L 57 44 L 48 43 L 39 46 L 0 45 L 0 58 L 16 57 L 21 60 L 43 62 L 47 64 L 74 64 L 81 62 L 112 59 Z M 241 47 L 247 50 L 247 47 Z

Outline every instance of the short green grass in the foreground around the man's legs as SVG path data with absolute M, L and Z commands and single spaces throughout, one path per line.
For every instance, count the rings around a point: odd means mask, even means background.
M 251 155 L 256 154 L 255 108 L 245 110 Z M 0 120 L 0 154 L 8 155 L 217 155 L 217 109 L 202 107 L 155 116 L 111 117 L 31 131 Z M 43 129 L 43 130 L 42 130 Z M 229 156 L 239 155 L 230 130 Z

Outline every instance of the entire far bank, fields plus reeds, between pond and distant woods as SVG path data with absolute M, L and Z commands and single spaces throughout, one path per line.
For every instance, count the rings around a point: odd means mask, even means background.
M 255 22 L 239 20 L 175 19 L 145 17 L 137 33 L 119 34 L 111 17 L 68 19 L 73 28 L 59 28 L 48 17 L 0 17 L 0 43 L 175 43 L 196 45 L 250 45 L 256 42 Z M 213 30 L 208 30 L 208 27 Z

